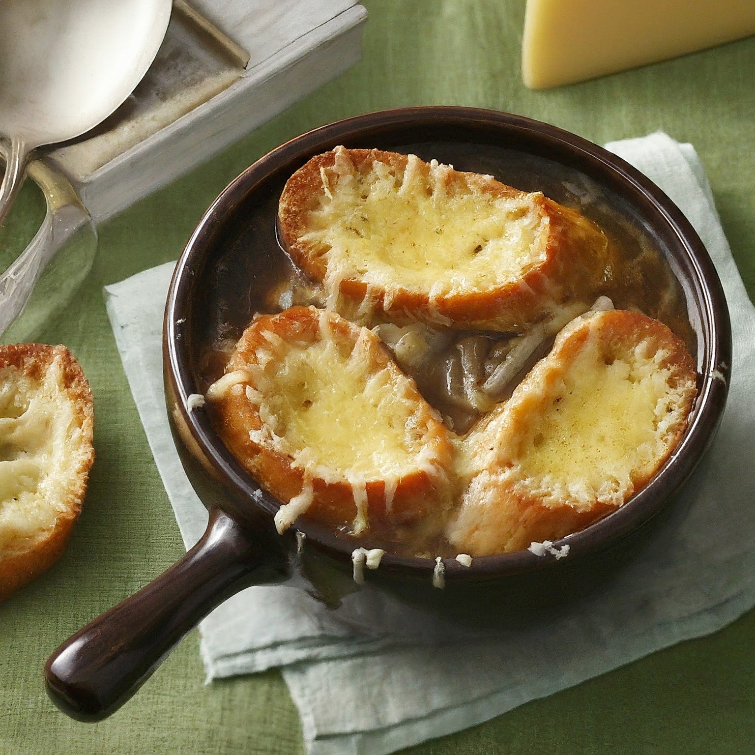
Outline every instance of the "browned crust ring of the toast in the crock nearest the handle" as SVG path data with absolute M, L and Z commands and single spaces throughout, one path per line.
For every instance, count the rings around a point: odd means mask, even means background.
M 324 337 L 331 337 L 345 352 L 359 350 L 368 377 L 384 373 L 402 400 L 411 402 L 412 422 L 425 450 L 415 464 L 408 461 L 393 483 L 387 484 L 378 470 L 356 473 L 316 463 L 314 458 L 322 449 L 296 448 L 288 442 L 288 434 L 276 438 L 280 430 L 271 427 L 276 418 L 265 417 L 271 394 L 287 390 L 276 376 L 276 368 L 266 374 L 267 360 L 277 367 L 288 350 L 307 350 Z M 207 394 L 216 410 L 220 435 L 260 485 L 284 504 L 310 495 L 305 505 L 307 517 L 334 528 L 351 528 L 355 534 L 367 526 L 379 528 L 385 522 L 406 524 L 433 518 L 445 507 L 450 495 L 448 430 L 414 381 L 399 371 L 387 348 L 366 328 L 314 307 L 292 307 L 276 315 L 260 316 L 246 329 L 230 358 L 226 375 L 234 374 L 239 381 L 233 387 L 220 395 L 211 388 Z M 303 462 L 303 458 L 310 458 L 311 463 Z M 362 522 L 357 506 L 360 496 L 364 497 Z

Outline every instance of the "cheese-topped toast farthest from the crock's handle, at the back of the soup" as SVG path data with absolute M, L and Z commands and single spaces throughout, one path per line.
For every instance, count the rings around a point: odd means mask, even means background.
M 279 236 L 328 308 L 393 322 L 516 330 L 595 300 L 614 248 L 577 211 L 414 155 L 310 159 L 279 202 Z

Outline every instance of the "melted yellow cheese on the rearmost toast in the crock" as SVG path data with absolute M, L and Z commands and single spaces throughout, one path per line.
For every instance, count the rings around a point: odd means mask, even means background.
M 488 290 L 545 259 L 549 221 L 531 199 L 449 188 L 452 168 L 422 165 L 411 155 L 403 174 L 374 162 L 362 175 L 337 154 L 335 175 L 322 171 L 322 206 L 302 240 L 328 248 L 330 291 L 346 276 L 389 289 L 432 282 L 435 296 Z

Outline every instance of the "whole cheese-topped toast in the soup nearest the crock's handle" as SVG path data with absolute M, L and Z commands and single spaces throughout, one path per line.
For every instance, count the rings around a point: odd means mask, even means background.
M 359 534 L 439 516 L 451 441 L 367 328 L 314 307 L 255 319 L 207 393 L 230 451 L 284 506 Z

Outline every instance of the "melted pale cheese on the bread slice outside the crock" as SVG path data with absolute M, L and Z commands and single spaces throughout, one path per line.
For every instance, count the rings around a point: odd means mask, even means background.
M 60 399 L 55 365 L 43 382 L 12 372 L 0 371 L 0 552 L 54 527 L 75 474 L 75 410 Z

